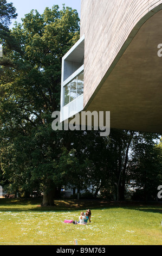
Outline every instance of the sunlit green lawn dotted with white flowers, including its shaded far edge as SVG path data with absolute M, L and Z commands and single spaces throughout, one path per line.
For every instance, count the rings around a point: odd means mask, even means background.
M 0 245 L 162 245 L 162 204 L 0 199 Z M 65 224 L 92 210 L 87 225 Z

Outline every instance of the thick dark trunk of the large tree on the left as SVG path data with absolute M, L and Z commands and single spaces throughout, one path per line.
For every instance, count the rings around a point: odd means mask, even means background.
M 50 179 L 47 180 L 47 184 L 43 191 L 43 202 L 42 206 L 55 206 L 54 197 L 56 192 L 56 186 Z

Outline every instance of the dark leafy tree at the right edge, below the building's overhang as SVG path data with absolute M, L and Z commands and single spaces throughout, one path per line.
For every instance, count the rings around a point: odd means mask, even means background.
M 146 137 L 145 137 L 146 138 Z M 147 134 L 147 139 L 148 134 Z M 162 179 L 162 151 L 153 140 L 139 143 L 134 151 L 130 178 L 133 180 L 134 199 L 153 200 L 157 197 L 157 187 Z

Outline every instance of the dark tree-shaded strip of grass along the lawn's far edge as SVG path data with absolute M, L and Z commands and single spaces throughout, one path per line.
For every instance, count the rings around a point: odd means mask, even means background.
M 78 211 L 78 210 L 97 210 L 97 209 L 112 209 L 123 208 L 131 210 L 139 210 L 145 212 L 153 212 L 162 214 L 162 204 L 160 202 L 107 202 L 105 200 L 77 200 L 64 199 L 55 200 L 56 206 L 41 206 L 42 199 L 0 199 L 0 211 Z

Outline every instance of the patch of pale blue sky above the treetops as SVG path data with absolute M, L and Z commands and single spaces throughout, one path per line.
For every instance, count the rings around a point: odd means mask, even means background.
M 7 0 L 7 2 L 13 3 L 13 6 L 16 8 L 16 13 L 18 14 L 17 19 L 12 20 L 10 28 L 14 26 L 15 21 L 22 23 L 21 19 L 24 18 L 25 14 L 30 13 L 32 9 L 43 14 L 46 7 L 51 9 L 53 5 L 59 5 L 60 9 L 62 9 L 62 4 L 65 4 L 67 7 L 72 7 L 77 10 L 80 17 L 81 0 Z

